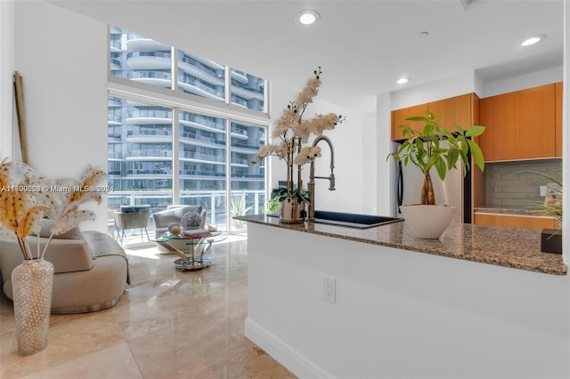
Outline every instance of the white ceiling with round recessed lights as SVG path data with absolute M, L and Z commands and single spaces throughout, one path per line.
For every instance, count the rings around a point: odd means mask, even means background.
M 558 67 L 564 54 L 563 0 L 50 3 L 295 90 L 322 66 L 322 99 L 347 106 L 474 70 L 493 81 Z M 321 20 L 298 25 L 302 9 Z M 520 47 L 537 34 L 548 37 Z

